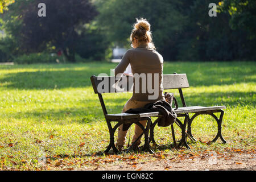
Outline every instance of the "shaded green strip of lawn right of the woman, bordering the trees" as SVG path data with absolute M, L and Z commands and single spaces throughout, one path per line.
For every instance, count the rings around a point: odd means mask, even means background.
M 254 62 L 180 62 L 164 65 L 164 74 L 187 73 L 190 86 L 255 82 Z

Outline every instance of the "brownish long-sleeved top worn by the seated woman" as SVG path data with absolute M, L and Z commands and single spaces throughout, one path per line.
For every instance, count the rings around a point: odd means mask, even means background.
M 148 46 L 139 46 L 137 48 L 131 48 L 126 51 L 123 55 L 121 62 L 115 68 L 115 76 L 118 73 L 123 73 L 128 65 L 131 65 L 131 71 L 135 77 L 141 75 L 141 73 L 146 74 L 146 93 L 143 92 L 145 83 L 139 80 L 139 93 L 138 86 L 134 84 L 133 87 L 133 97 L 132 100 L 137 101 L 158 101 L 164 100 L 163 95 L 163 57 Z M 151 77 L 148 77 L 148 73 L 151 73 Z M 155 73 L 158 77 L 155 77 Z M 155 80 L 155 78 L 158 78 Z M 137 81 L 138 81 L 137 80 Z M 152 84 L 148 84 L 148 81 L 152 81 Z M 135 78 L 134 78 L 135 82 Z M 143 85 L 143 86 L 142 86 Z M 143 87 L 143 88 L 142 88 Z M 149 89 L 148 89 L 149 88 Z M 145 89 L 145 88 L 144 88 Z M 151 91 L 150 91 L 151 90 Z M 152 93 L 152 90 L 154 92 Z M 151 96 L 151 97 L 149 97 Z

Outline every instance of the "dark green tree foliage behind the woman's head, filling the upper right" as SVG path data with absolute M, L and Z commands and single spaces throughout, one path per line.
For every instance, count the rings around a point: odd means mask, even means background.
M 232 0 L 230 0 L 231 2 Z M 238 0 L 237 0 L 238 1 Z M 253 0 L 251 0 L 253 1 Z M 212 0 L 184 1 L 125 1 L 98 0 L 98 26 L 107 38 L 129 47 L 129 36 L 135 18 L 146 18 L 152 24 L 153 40 L 166 60 L 234 60 L 255 59 L 255 43 L 247 39 L 246 28 L 253 30 L 255 21 L 249 18 L 251 27 L 237 23 L 236 30 L 229 26 L 226 12 L 217 17 L 208 15 Z M 225 4 L 225 3 L 224 3 Z M 241 5 L 242 6 L 242 5 Z M 244 17 L 254 5 L 244 10 Z M 256 11 L 251 11 L 251 13 Z M 249 15 L 248 15 L 249 16 Z M 106 18 L 108 17 L 108 18 Z M 232 20 L 231 20 L 232 21 Z M 253 32 L 253 31 L 252 31 Z M 255 35 L 255 31 L 253 32 Z

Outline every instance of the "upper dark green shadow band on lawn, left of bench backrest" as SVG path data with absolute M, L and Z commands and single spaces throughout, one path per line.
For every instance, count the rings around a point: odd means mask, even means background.
M 9 73 L 0 79 L 7 82 L 8 89 L 63 89 L 84 88 L 90 86 L 90 76 L 95 72 L 89 71 L 38 71 Z

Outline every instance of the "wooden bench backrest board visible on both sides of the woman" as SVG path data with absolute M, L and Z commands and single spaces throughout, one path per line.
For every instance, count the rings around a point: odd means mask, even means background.
M 92 76 L 90 79 L 95 93 L 133 92 L 133 77 L 123 76 L 121 81 L 115 80 L 114 76 Z M 105 88 L 105 86 L 107 88 Z M 188 87 L 189 84 L 186 74 L 163 75 L 164 89 L 181 89 Z

